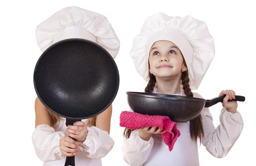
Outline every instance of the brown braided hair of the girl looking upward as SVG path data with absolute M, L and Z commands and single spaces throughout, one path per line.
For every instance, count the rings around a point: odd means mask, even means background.
M 184 62 L 184 65 L 186 66 L 186 62 L 185 62 L 184 57 L 183 57 L 183 62 Z M 150 68 L 149 63 L 148 63 L 148 68 Z M 151 74 L 149 71 L 148 71 L 148 73 L 149 73 L 148 74 L 149 81 L 148 81 L 147 86 L 145 87 L 145 92 L 152 93 L 157 81 L 156 81 L 156 77 L 153 74 Z M 193 93 L 192 93 L 192 91 L 190 89 L 190 86 L 189 86 L 189 72 L 188 72 L 188 70 L 182 72 L 182 74 L 181 74 L 181 84 L 183 85 L 183 90 L 184 90 L 185 95 L 189 96 L 189 97 L 193 97 Z M 201 144 L 201 138 L 204 137 L 204 130 L 203 130 L 201 114 L 198 115 L 198 117 L 196 117 L 195 119 L 190 121 L 189 130 L 190 130 L 191 139 L 195 142 L 199 139 L 200 144 Z M 132 129 L 125 128 L 125 130 L 123 132 L 123 136 L 125 138 L 130 138 L 130 135 L 131 135 L 132 131 L 133 131 Z

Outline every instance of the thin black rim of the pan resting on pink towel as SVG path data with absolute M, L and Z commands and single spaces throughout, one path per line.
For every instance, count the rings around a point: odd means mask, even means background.
M 195 98 L 189 96 L 181 96 L 182 98 L 177 98 L 177 95 L 169 95 L 162 93 L 146 93 L 146 92 L 126 92 L 126 94 L 130 96 L 139 96 L 139 97 L 147 97 L 147 98 L 157 98 L 157 99 L 166 99 L 166 100 L 180 100 L 180 101 L 198 101 L 198 102 L 206 102 L 207 99 L 204 98 Z M 159 96 L 155 96 L 152 94 L 159 94 Z

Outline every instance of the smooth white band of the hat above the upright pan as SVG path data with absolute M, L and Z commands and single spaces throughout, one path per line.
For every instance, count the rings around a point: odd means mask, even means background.
M 71 39 L 71 38 L 87 39 L 92 42 L 96 42 L 96 37 L 93 36 L 93 34 L 88 32 L 87 30 L 80 28 L 79 26 L 69 26 L 59 31 L 53 37 L 53 43 L 59 42 L 64 39 Z

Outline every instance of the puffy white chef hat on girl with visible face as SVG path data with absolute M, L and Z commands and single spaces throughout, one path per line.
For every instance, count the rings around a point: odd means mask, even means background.
M 189 70 L 190 88 L 197 90 L 215 55 L 214 41 L 206 23 L 191 16 L 171 17 L 163 13 L 148 17 L 130 51 L 137 72 L 146 81 L 149 51 L 159 40 L 177 45 Z

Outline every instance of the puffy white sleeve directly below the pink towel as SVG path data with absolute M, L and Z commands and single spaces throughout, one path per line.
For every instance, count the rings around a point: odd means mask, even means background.
M 154 144 L 152 136 L 149 141 L 143 140 L 138 130 L 131 132 L 131 136 L 122 143 L 123 160 L 131 166 L 141 166 L 146 162 Z

